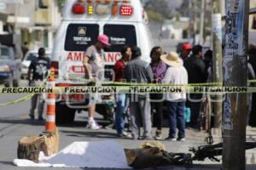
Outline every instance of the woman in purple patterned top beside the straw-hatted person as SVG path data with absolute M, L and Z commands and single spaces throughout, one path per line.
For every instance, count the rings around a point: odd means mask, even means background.
M 167 65 L 164 63 L 160 56 L 164 54 L 163 49 L 160 47 L 154 47 L 151 50 L 150 58 L 151 58 L 151 68 L 154 75 L 154 83 L 161 83 L 163 78 L 165 77 Z M 162 139 L 162 126 L 163 126 L 163 94 L 150 94 L 151 100 L 151 111 L 153 117 L 153 122 L 156 122 L 156 131 L 154 139 L 160 140 Z M 154 113 L 155 111 L 155 113 Z M 154 116 L 155 114 L 155 116 Z

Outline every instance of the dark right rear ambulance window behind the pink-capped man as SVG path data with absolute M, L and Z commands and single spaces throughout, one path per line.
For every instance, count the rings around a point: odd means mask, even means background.
M 137 37 L 134 26 L 105 25 L 104 34 L 110 39 L 111 46 L 108 49 L 110 52 L 119 52 L 124 45 L 129 45 L 131 47 L 137 46 Z

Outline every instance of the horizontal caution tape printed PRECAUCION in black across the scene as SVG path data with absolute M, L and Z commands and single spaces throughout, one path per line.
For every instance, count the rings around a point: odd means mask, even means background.
M 252 87 L 187 87 L 187 86 L 83 86 L 0 88 L 0 94 L 237 94 L 256 93 Z

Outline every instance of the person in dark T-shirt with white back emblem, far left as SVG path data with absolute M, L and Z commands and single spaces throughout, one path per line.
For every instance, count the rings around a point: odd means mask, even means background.
M 37 87 L 40 86 L 44 78 L 47 77 L 47 72 L 50 68 L 50 60 L 45 56 L 45 49 L 38 49 L 38 58 L 32 60 L 32 63 L 28 67 L 28 83 L 29 86 Z M 39 102 L 38 102 L 39 99 Z M 30 118 L 35 119 L 35 110 L 38 105 L 38 120 L 43 121 L 43 112 L 44 112 L 44 99 L 42 94 L 34 94 L 32 96 L 32 107 L 30 110 Z M 39 104 L 38 104 L 39 103 Z

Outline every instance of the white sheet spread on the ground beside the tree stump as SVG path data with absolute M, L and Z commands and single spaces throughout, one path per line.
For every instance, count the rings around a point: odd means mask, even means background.
M 17 159 L 14 163 L 18 167 L 131 168 L 127 164 L 124 148 L 115 141 L 73 142 L 55 156 L 40 156 L 39 160 L 38 164 Z

